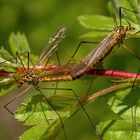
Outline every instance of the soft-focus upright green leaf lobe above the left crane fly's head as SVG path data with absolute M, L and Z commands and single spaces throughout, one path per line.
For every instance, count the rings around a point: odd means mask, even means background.
M 9 45 L 14 56 L 16 56 L 16 52 L 25 53 L 31 51 L 25 35 L 21 34 L 20 32 L 18 32 L 17 34 L 12 33 L 10 35 Z

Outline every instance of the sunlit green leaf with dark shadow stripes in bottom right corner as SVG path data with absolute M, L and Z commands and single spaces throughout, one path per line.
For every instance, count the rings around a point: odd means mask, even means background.
M 122 119 L 112 118 L 111 121 L 101 122 L 100 125 L 98 125 L 98 130 L 102 132 L 105 140 L 119 140 L 122 138 L 124 140 L 134 139 L 135 135 L 131 135 L 134 127 L 136 129 L 135 133 L 137 135 L 137 139 L 140 139 L 140 128 L 138 124 L 140 121 L 139 107 L 136 110 L 137 115 L 135 117 L 133 116 L 133 119 L 135 120 L 132 119 L 132 108 L 138 104 L 137 100 L 139 99 L 138 96 L 140 95 L 137 94 L 134 96 L 134 94 L 130 93 L 131 90 L 132 88 L 126 88 L 116 92 L 116 98 L 112 106 L 112 111 L 120 115 Z M 111 102 L 110 104 L 112 105 Z

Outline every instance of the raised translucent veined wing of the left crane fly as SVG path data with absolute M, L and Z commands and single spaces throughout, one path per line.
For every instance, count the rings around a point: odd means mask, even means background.
M 50 56 L 52 56 L 56 50 L 57 46 L 62 42 L 65 37 L 66 26 L 62 26 L 50 39 L 49 42 L 45 45 L 39 59 L 38 64 L 47 63 Z

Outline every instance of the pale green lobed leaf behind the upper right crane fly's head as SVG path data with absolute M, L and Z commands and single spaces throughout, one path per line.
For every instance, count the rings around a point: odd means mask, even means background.
M 109 33 L 114 29 L 115 24 L 112 17 L 102 16 L 102 15 L 86 15 L 79 16 L 78 20 L 80 24 L 87 28 L 95 31 L 88 32 L 81 36 L 81 38 L 93 38 L 93 39 L 102 39 L 105 36 L 109 35 Z M 125 19 L 122 19 L 122 25 L 128 25 Z M 132 26 L 136 28 L 133 32 L 128 32 L 127 37 L 140 37 L 139 34 L 135 34 L 140 30 L 140 26 L 138 24 L 132 23 Z

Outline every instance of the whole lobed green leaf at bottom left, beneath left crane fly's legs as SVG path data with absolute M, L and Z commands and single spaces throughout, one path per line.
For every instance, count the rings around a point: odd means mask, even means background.
M 51 106 L 47 104 L 44 97 L 35 95 L 30 100 L 22 103 L 17 109 L 15 118 L 20 122 L 24 122 L 25 125 L 33 126 L 21 135 L 21 140 L 28 138 L 33 140 L 55 139 L 62 129 L 62 122 L 58 114 L 64 123 L 78 109 L 78 106 L 73 106 L 77 102 L 75 99 L 60 96 L 46 98 Z

